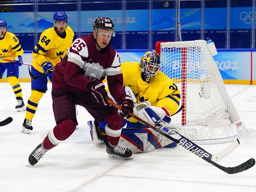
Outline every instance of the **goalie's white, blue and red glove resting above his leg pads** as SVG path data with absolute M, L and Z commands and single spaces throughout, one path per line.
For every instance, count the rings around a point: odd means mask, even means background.
M 165 107 L 150 106 L 149 102 L 136 105 L 134 114 L 151 125 L 166 126 L 171 122 L 171 115 Z

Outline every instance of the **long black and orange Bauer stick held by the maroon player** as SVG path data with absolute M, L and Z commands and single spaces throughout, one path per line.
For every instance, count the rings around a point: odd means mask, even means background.
M 113 105 L 115 108 L 122 109 L 121 106 L 114 103 L 112 100 L 107 99 L 107 101 L 108 101 L 109 104 Z M 224 171 L 228 174 L 239 173 L 239 172 L 248 170 L 249 168 L 251 168 L 252 166 L 255 165 L 254 158 L 250 158 L 246 162 L 244 162 L 244 163 L 242 163 L 238 166 L 235 166 L 235 167 L 221 166 L 220 164 L 217 164 L 216 162 L 211 160 L 212 155 L 210 153 L 208 153 L 206 150 L 204 150 L 203 148 L 201 148 L 200 146 L 198 146 L 194 142 L 192 142 L 189 139 L 185 138 L 184 136 L 180 135 L 178 132 L 171 131 L 172 134 L 168 135 L 168 134 L 162 132 L 161 130 L 159 130 L 158 128 L 156 128 L 155 126 L 149 124 L 148 122 L 146 122 L 146 121 L 142 120 L 141 118 L 139 118 L 138 116 L 134 115 L 133 113 L 129 112 L 128 115 L 130 115 L 131 117 L 140 121 L 141 123 L 145 124 L 146 126 L 154 129 L 156 132 L 158 132 L 158 133 L 162 134 L 163 136 L 165 136 L 166 138 L 176 142 L 177 144 L 179 144 L 180 146 L 182 146 L 186 150 L 189 150 L 190 152 L 194 153 L 196 156 L 202 158 L 206 162 L 212 164 L 213 166 L 219 168 L 220 170 L 222 170 L 222 171 Z

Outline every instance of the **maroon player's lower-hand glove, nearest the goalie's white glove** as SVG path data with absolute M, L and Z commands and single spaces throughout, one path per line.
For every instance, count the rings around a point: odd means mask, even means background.
M 118 104 L 122 107 L 122 110 L 118 110 L 119 115 L 125 120 L 129 120 L 131 116 L 128 115 L 128 112 L 132 113 L 134 108 L 132 97 L 129 95 L 124 95 L 118 100 Z

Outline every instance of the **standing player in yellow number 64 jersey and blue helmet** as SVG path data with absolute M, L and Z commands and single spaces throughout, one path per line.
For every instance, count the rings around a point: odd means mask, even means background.
M 47 90 L 47 77 L 52 82 L 52 72 L 55 65 L 61 62 L 70 48 L 74 32 L 68 26 L 68 16 L 64 11 L 56 11 L 53 15 L 54 27 L 42 32 L 38 44 L 32 52 L 33 62 L 31 72 L 38 76 L 48 72 L 45 76 L 31 80 L 31 96 L 26 107 L 26 116 L 22 124 L 22 133 L 29 134 L 32 127 L 32 119 L 36 113 L 39 100 Z

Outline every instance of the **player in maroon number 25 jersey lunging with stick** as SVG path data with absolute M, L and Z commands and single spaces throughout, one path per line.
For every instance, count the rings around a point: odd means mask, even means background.
M 28 161 L 35 165 L 40 158 L 76 129 L 76 104 L 83 106 L 98 121 L 106 119 L 106 152 L 111 158 L 132 158 L 132 151 L 118 146 L 123 118 L 132 112 L 134 104 L 123 90 L 120 58 L 110 45 L 115 36 L 110 18 L 98 17 L 93 34 L 77 38 L 62 62 L 52 74 L 52 101 L 56 126 L 30 154 Z M 111 95 L 122 106 L 117 111 L 107 103 L 102 80 L 107 76 Z

